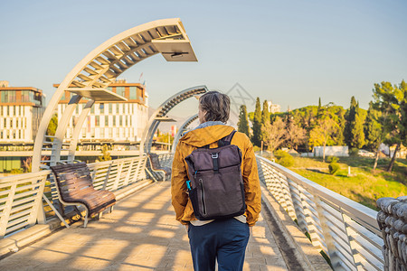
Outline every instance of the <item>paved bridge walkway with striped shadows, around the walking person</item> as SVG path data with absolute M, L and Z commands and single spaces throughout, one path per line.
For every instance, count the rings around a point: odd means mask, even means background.
M 119 201 L 111 214 L 62 229 L 0 261 L 2 270 L 193 270 L 185 229 L 175 221 L 169 182 Z M 244 270 L 287 270 L 260 217 Z

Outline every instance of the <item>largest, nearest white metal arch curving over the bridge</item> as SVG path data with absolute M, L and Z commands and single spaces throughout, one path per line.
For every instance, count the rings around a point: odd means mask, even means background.
M 33 172 L 40 170 L 42 156 L 50 156 L 50 159 L 46 161 L 50 165 L 56 164 L 60 160 L 66 127 L 80 98 L 85 97 L 96 101 L 109 101 L 109 98 L 120 99 L 118 95 L 106 89 L 109 84 L 138 61 L 145 60 L 158 52 L 164 56 L 166 61 L 197 61 L 179 18 L 138 25 L 119 33 L 90 51 L 62 80 L 45 109 L 35 138 Z M 65 90 L 79 96 L 71 98 L 67 109 L 63 112 L 62 121 L 57 127 L 55 136 L 52 136 L 52 140 L 47 141 L 45 132 Z M 79 133 L 74 133 L 74 135 L 78 136 Z M 76 143 L 77 138 L 71 138 L 69 143 L 71 159 L 74 156 Z M 52 147 L 49 148 L 47 145 L 52 145 Z M 52 154 L 46 154 L 44 151 L 52 151 Z

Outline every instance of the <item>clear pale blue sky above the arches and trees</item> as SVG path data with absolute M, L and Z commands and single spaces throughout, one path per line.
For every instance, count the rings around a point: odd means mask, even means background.
M 198 62 L 147 59 L 150 106 L 195 85 L 239 82 L 283 109 L 330 101 L 367 107 L 375 82 L 407 79 L 407 2 L 400 1 L 0 1 L 0 79 L 43 89 L 101 42 L 141 23 L 179 17 Z M 175 110 L 194 113 L 194 104 Z

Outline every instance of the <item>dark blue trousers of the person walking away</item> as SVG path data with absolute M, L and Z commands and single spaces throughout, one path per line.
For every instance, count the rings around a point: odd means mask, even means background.
M 248 224 L 235 219 L 215 220 L 204 226 L 189 225 L 189 245 L 195 271 L 243 270 L 250 237 Z

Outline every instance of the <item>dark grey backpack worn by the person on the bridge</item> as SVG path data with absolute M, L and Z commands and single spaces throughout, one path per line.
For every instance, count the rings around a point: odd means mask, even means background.
M 228 219 L 246 210 L 241 150 L 231 145 L 234 133 L 219 140 L 217 148 L 205 145 L 185 157 L 186 184 L 198 220 Z

